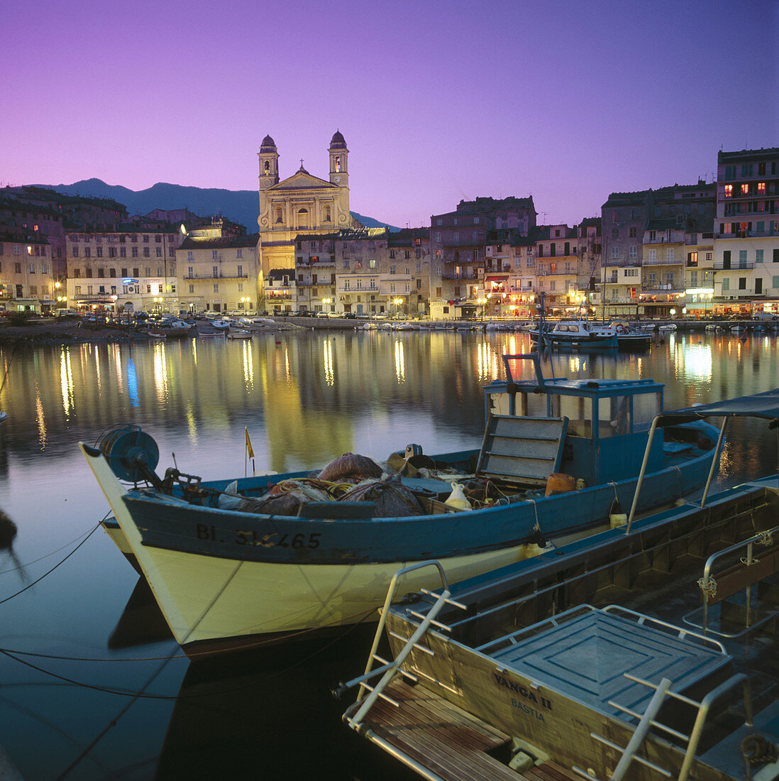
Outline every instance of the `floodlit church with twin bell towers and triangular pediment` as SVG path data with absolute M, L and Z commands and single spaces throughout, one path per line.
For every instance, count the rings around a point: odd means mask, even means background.
M 349 150 L 336 130 L 329 146 L 329 179 L 320 179 L 303 167 L 287 179 L 279 178 L 279 151 L 265 136 L 258 152 L 261 272 L 293 269 L 295 240 L 307 234 L 359 228 L 349 212 Z

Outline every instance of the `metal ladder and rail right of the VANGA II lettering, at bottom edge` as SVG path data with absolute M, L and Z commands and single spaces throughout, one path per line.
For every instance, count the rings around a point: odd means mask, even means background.
M 623 781 L 623 779 L 629 779 L 631 776 L 628 775 L 628 769 L 631 763 L 634 761 L 656 772 L 663 778 L 675 779 L 675 781 L 687 781 L 690 769 L 692 769 L 692 763 L 695 761 L 695 751 L 698 750 L 698 744 L 701 736 L 703 735 L 703 726 L 706 724 L 706 718 L 708 717 L 713 704 L 721 697 L 723 697 L 724 694 L 727 694 L 727 692 L 729 692 L 731 689 L 734 689 L 739 684 L 743 686 L 744 692 L 745 725 L 750 727 L 752 726 L 752 691 L 749 685 L 749 678 L 745 676 L 744 673 L 738 673 L 735 676 L 731 676 L 731 678 L 724 681 L 724 683 L 720 683 L 719 686 L 706 694 L 706 696 L 703 697 L 703 700 L 701 701 L 696 701 L 690 697 L 685 697 L 683 694 L 678 694 L 677 692 L 671 691 L 673 682 L 667 678 L 663 678 L 660 683 L 651 683 L 650 681 L 631 676 L 627 672 L 624 673 L 624 677 L 633 683 L 638 683 L 642 686 L 647 686 L 649 689 L 653 689 L 654 694 L 643 713 L 637 713 L 630 708 L 625 708 L 624 705 L 614 701 L 609 701 L 610 706 L 613 708 L 617 708 L 634 719 L 638 719 L 638 724 L 635 726 L 633 734 L 628 741 L 628 745 L 624 748 L 615 744 L 611 740 L 607 740 L 602 735 L 590 733 L 590 736 L 594 740 L 598 740 L 599 743 L 613 748 L 616 751 L 621 751 L 621 758 L 617 763 L 617 767 L 614 769 L 614 772 L 611 774 L 609 781 Z M 685 703 L 697 711 L 695 715 L 695 722 L 689 735 L 681 733 L 677 729 L 672 729 L 670 726 L 656 721 L 655 717 L 660 711 L 660 706 L 667 697 L 672 697 L 675 700 Z M 649 734 L 650 728 L 660 730 L 661 732 L 670 735 L 671 737 L 678 740 L 682 745 L 686 744 L 685 757 L 681 763 L 681 768 L 678 770 L 678 775 L 674 776 L 676 769 L 671 772 L 669 769 L 660 767 L 660 765 L 656 765 L 652 761 L 638 756 L 637 752 L 646 740 L 646 736 Z M 589 779 L 589 781 L 598 781 L 598 779 L 595 779 L 591 773 L 586 772 L 585 770 L 578 768 L 575 765 L 572 769 L 575 773 L 578 773 L 579 776 L 582 776 L 582 778 Z

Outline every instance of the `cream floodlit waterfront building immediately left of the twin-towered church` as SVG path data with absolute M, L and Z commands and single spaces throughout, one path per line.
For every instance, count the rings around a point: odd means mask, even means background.
M 176 250 L 180 308 L 195 312 L 254 312 L 264 297 L 259 234 L 223 218 L 185 229 Z

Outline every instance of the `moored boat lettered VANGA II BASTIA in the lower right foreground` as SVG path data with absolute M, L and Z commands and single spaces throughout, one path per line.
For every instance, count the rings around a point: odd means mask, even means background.
M 774 426 L 779 389 L 671 415 Z M 401 569 L 344 721 L 426 779 L 779 778 L 777 479 L 461 583 L 425 562 L 416 595 Z

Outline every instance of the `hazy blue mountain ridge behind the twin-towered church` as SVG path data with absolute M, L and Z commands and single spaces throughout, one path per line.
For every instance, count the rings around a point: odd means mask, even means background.
M 91 195 L 112 198 L 125 205 L 130 215 L 148 214 L 153 209 L 189 209 L 199 216 L 222 216 L 246 226 L 250 234 L 257 233 L 259 196 L 256 190 L 222 190 L 219 187 L 186 187 L 182 184 L 158 182 L 146 190 L 130 190 L 120 184 L 105 184 L 101 179 L 82 179 L 73 184 L 38 184 L 62 194 Z M 383 227 L 373 217 L 351 212 L 354 219 L 368 228 Z M 389 230 L 400 230 L 390 225 Z

